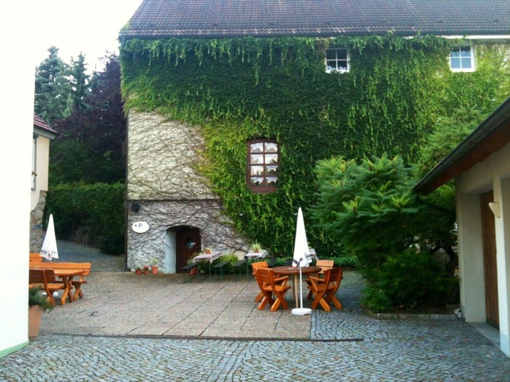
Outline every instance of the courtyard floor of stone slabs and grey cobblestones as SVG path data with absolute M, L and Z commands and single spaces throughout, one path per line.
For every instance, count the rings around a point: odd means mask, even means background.
M 89 280 L 83 299 L 45 314 L 40 336 L 0 359 L 0 381 L 510 381 L 510 359 L 462 320 L 364 315 L 354 272 L 344 309 L 304 317 L 258 311 L 251 278 Z

